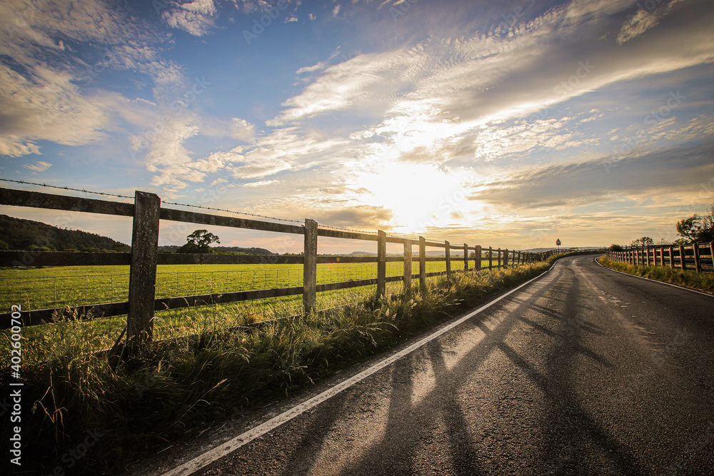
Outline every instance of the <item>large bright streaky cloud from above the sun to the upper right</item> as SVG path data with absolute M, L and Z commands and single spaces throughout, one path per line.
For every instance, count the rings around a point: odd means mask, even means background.
M 266 124 L 324 127 L 322 118 L 349 111 L 376 121 L 351 133 L 356 147 L 371 142 L 393 149 L 388 156 L 417 162 L 430 155 L 443 161 L 456 150 L 493 161 L 537 146 L 563 151 L 593 145 L 598 138 L 545 122 L 553 108 L 623 81 L 714 60 L 712 31 L 688 28 L 676 4 L 663 8 L 668 14 L 660 15 L 662 24 L 646 44 L 607 39 L 635 2 L 573 1 L 514 24 L 505 35 L 432 37 L 333 66 L 321 61 L 298 69 L 298 75 L 315 75 L 313 81 Z M 712 9 L 701 2 L 696 9 L 714 21 Z M 514 119 L 515 125 L 501 125 Z

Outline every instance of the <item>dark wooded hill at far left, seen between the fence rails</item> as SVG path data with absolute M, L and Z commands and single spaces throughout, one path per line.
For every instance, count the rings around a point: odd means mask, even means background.
M 39 221 L 0 215 L 0 249 L 128 252 L 131 246 L 96 233 L 67 230 Z

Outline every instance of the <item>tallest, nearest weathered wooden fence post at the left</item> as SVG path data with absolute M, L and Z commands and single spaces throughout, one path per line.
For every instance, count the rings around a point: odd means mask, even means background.
M 126 341 L 131 347 L 151 340 L 154 335 L 160 208 L 161 198 L 155 193 L 134 192 L 129 313 L 126 318 Z

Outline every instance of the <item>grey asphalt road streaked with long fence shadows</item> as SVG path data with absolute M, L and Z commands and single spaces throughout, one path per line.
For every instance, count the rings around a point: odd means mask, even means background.
M 714 297 L 593 258 L 558 261 L 195 474 L 714 474 Z

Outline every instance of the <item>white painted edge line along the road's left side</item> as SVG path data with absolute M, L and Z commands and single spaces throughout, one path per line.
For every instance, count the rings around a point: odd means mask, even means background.
M 553 266 L 555 266 L 555 263 L 553 263 Z M 409 347 L 404 348 L 403 350 L 400 350 L 398 353 L 390 355 L 388 358 L 381 360 L 380 362 L 372 365 L 370 368 L 363 370 L 362 372 L 358 373 L 357 375 L 353 375 L 353 377 L 348 378 L 347 380 L 344 380 L 341 383 L 338 383 L 337 385 L 335 385 L 332 388 L 329 388 L 328 390 L 325 390 L 323 393 L 316 395 L 316 396 L 312 397 L 311 399 L 306 400 L 306 401 L 292 407 L 290 410 L 287 410 L 286 412 L 283 412 L 280 415 L 273 417 L 266 422 L 261 423 L 261 425 L 253 427 L 251 430 L 243 432 L 241 435 L 238 435 L 235 438 L 233 438 L 232 440 L 228 440 L 227 442 L 223 443 L 222 445 L 218 445 L 218 446 L 214 447 L 213 449 L 206 451 L 202 455 L 198 455 L 197 457 L 193 458 L 193 460 L 185 462 L 185 463 L 183 463 L 183 465 L 178 466 L 178 467 L 174 468 L 173 470 L 164 473 L 163 476 L 191 475 L 191 474 L 193 474 L 193 472 L 200 470 L 202 467 L 208 466 L 212 462 L 218 460 L 219 458 L 221 458 L 223 456 L 228 455 L 228 453 L 230 453 L 230 452 L 237 450 L 239 447 L 245 445 L 246 443 L 249 443 L 249 442 L 255 440 L 257 437 L 260 437 L 261 435 L 265 435 L 267 432 L 274 430 L 276 427 L 282 425 L 283 423 L 288 422 L 288 421 L 292 420 L 294 417 L 301 415 L 301 413 L 306 412 L 307 410 L 310 410 L 312 407 L 314 407 L 316 405 L 319 405 L 321 402 L 324 402 L 329 397 L 337 395 L 342 390 L 346 390 L 347 388 L 350 388 L 352 385 L 358 383 L 360 380 L 363 380 L 363 379 L 369 377 L 373 373 L 378 372 L 378 370 L 385 368 L 387 365 L 404 357 L 408 353 L 411 353 L 413 350 L 416 350 L 416 349 L 420 348 L 422 345 L 430 342 L 431 340 L 438 338 L 440 335 L 455 328 L 457 325 L 463 323 L 464 321 L 473 318 L 473 316 L 477 315 L 478 313 L 481 313 L 483 310 L 486 310 L 487 308 L 490 308 L 492 305 L 498 303 L 498 301 L 502 300 L 503 298 L 506 298 L 506 296 L 515 293 L 517 290 L 523 288 L 523 286 L 526 286 L 526 285 L 532 283 L 533 281 L 535 281 L 536 279 L 540 278 L 541 276 L 545 275 L 545 273 L 548 273 L 548 271 L 553 269 L 553 266 L 550 266 L 550 268 L 548 268 L 548 270 L 546 270 L 545 272 L 540 273 L 540 275 L 535 276 L 535 278 L 528 280 L 528 281 L 526 281 L 526 283 L 523 283 L 522 285 L 518 286 L 518 288 L 514 288 L 514 289 L 510 290 L 510 291 L 508 291 L 508 293 L 499 296 L 498 298 L 492 300 L 490 303 L 482 305 L 481 308 L 478 308 L 478 309 L 472 311 L 471 313 L 468 313 L 467 315 L 463 316 L 463 318 L 458 319 L 449 325 L 446 325 L 445 327 L 426 336 L 425 338 L 419 340 L 418 342 L 413 343 Z

